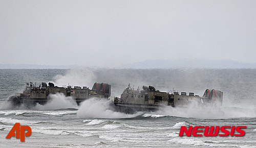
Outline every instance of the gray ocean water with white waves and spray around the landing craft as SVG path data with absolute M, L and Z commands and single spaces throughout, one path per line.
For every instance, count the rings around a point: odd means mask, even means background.
M 8 96 L 26 83 L 88 86 L 111 84 L 120 96 L 134 88 L 154 86 L 203 95 L 206 88 L 223 91 L 220 110 L 164 107 L 154 112 L 125 114 L 108 100 L 92 98 L 77 106 L 70 97 L 54 94 L 45 105 L 12 107 Z M 256 69 L 0 69 L 0 147 L 255 147 Z M 5 137 L 15 124 L 30 126 L 32 134 Z M 181 126 L 247 126 L 245 135 L 179 136 Z

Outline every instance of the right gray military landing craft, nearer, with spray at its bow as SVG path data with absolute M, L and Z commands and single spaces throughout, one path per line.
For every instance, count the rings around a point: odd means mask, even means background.
M 219 108 L 222 106 L 223 92 L 219 90 L 206 89 L 200 97 L 193 92 L 172 93 L 161 92 L 153 86 L 143 86 L 135 90 L 130 84 L 124 89 L 121 97 L 111 97 L 111 101 L 123 112 L 156 110 L 163 106 L 187 107 L 189 105 Z

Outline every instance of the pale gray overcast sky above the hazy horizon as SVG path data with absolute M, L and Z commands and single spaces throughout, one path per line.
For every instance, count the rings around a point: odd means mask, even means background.
M 0 64 L 256 63 L 256 1 L 0 1 Z

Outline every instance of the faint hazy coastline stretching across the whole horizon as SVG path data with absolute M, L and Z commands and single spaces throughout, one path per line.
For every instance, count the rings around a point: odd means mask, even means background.
M 147 60 L 123 64 L 118 67 L 78 66 L 78 65 L 39 65 L 39 64 L 0 64 L 0 69 L 71 69 L 71 68 L 118 68 L 118 69 L 172 69 L 172 68 L 214 68 L 214 69 L 256 69 L 256 63 L 242 63 L 231 60 L 181 59 Z

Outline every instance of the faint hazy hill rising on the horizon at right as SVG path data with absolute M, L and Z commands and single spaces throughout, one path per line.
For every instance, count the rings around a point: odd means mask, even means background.
M 231 60 L 147 60 L 122 65 L 122 68 L 152 69 L 152 68 L 256 68 L 256 63 L 241 63 Z

